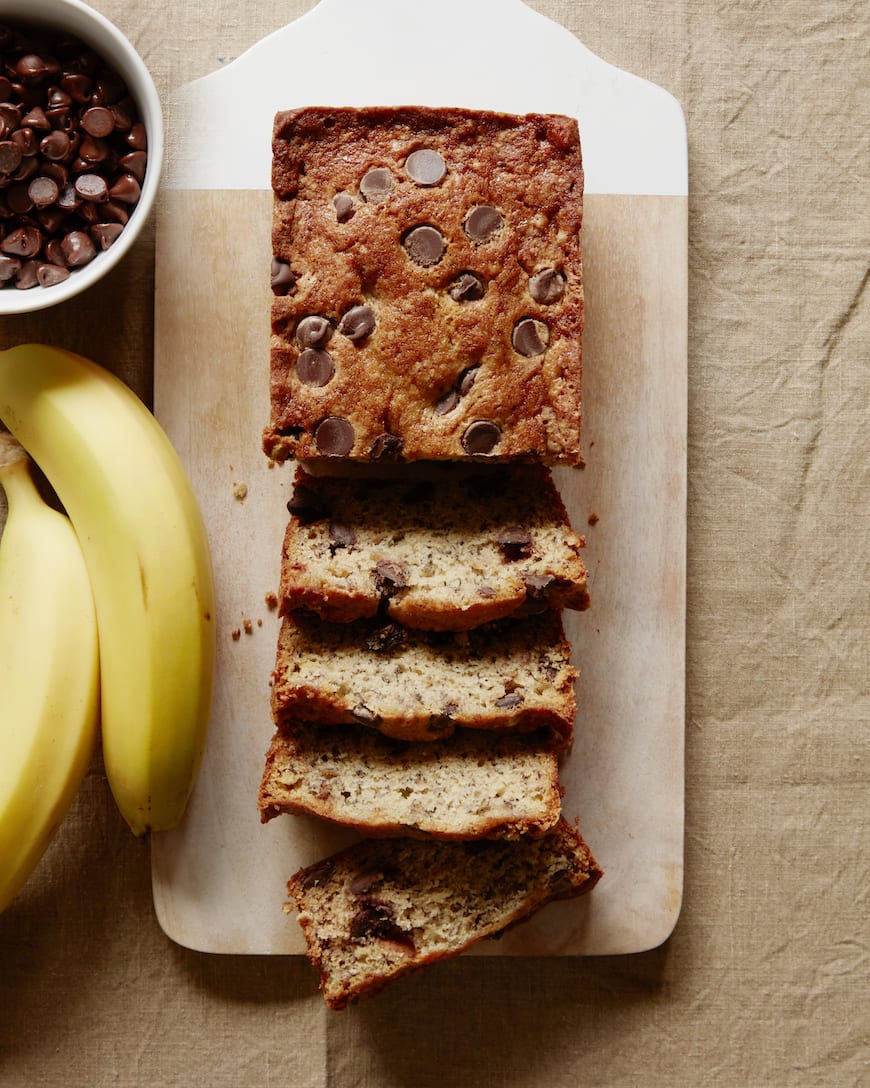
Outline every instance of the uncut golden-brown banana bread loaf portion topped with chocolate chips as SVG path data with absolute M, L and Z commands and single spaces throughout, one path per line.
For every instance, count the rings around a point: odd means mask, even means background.
M 580 462 L 575 121 L 279 113 L 273 187 L 270 457 Z

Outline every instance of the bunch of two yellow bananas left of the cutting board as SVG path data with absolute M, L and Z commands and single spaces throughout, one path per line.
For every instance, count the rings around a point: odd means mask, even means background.
M 17 440 L 0 450 L 2 911 L 66 813 L 98 722 L 130 829 L 181 820 L 206 742 L 215 621 L 192 489 L 122 381 L 45 345 L 0 351 L 0 420 Z M 69 519 L 42 502 L 24 450 Z

